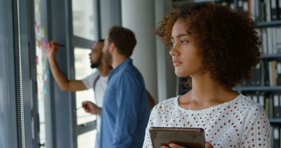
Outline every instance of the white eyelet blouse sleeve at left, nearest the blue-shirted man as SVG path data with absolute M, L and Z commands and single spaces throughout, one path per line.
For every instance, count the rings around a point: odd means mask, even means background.
M 157 108 L 157 106 L 153 107 L 153 110 L 150 113 L 149 121 L 148 121 L 146 130 L 145 130 L 145 137 L 144 137 L 144 143 L 143 143 L 142 148 L 152 148 L 152 142 L 151 142 L 150 134 L 149 134 L 148 130 L 150 127 L 155 127 L 156 108 Z

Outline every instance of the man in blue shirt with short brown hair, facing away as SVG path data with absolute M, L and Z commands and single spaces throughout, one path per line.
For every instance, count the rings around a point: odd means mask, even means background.
M 135 35 L 115 26 L 104 41 L 105 63 L 114 68 L 101 110 L 100 147 L 142 147 L 149 119 L 149 101 L 140 72 L 133 66 Z

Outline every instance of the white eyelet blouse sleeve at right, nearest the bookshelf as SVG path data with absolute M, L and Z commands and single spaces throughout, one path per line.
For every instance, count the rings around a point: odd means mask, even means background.
M 243 129 L 244 134 L 239 147 L 270 147 L 271 127 L 261 105 L 246 115 Z

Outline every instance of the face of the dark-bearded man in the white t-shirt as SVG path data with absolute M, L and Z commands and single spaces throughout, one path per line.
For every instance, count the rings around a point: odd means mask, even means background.
M 103 48 L 102 42 L 96 42 L 92 47 L 92 52 L 89 54 L 91 68 L 97 68 L 101 64 L 101 49 Z

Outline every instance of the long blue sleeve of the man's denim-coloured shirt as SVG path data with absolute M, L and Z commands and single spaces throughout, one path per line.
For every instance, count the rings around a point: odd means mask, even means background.
M 137 78 L 123 75 L 116 88 L 117 113 L 111 147 L 130 147 L 138 123 L 143 88 Z

